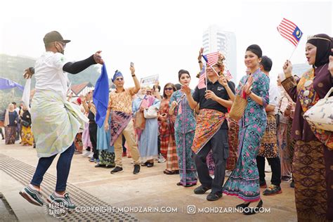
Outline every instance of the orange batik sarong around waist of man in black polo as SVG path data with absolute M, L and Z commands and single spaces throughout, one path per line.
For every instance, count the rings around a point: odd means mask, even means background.
M 197 126 L 195 128 L 195 138 L 192 150 L 197 154 L 208 143 L 208 141 L 221 128 L 226 115 L 217 110 L 202 109 L 197 116 Z

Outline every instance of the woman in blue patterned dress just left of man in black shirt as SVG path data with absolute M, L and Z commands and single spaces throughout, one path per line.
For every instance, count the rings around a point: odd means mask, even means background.
M 178 79 L 182 85 L 190 84 L 190 73 L 186 70 L 178 72 Z M 194 93 L 194 90 L 191 91 Z M 177 108 L 176 108 L 177 107 Z M 169 115 L 176 110 L 175 136 L 178 156 L 179 174 L 181 181 L 177 185 L 191 187 L 197 184 L 197 169 L 195 167 L 192 143 L 195 136 L 195 113 L 188 105 L 188 100 L 182 91 L 176 91 L 171 96 Z

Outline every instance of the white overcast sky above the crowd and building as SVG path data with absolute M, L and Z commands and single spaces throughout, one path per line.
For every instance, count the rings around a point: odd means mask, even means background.
M 120 70 L 125 86 L 133 85 L 132 61 L 139 78 L 159 74 L 162 86 L 177 83 L 178 70 L 188 70 L 194 88 L 202 32 L 209 25 L 235 32 L 238 74 L 246 69 L 247 46 L 259 44 L 273 59 L 275 76 L 294 49 L 276 29 L 282 18 L 304 34 L 292 63 L 306 63 L 306 38 L 332 36 L 332 11 L 332 1 L 1 1 L 0 53 L 38 58 L 44 35 L 58 30 L 72 40 L 67 58 L 81 60 L 102 50 L 109 76 Z

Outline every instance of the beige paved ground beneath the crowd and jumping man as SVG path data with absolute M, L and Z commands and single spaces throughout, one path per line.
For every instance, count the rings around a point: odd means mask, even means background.
M 55 221 L 56 218 L 46 214 L 45 207 L 29 204 L 18 194 L 24 186 L 23 183 L 27 183 L 26 181 L 33 174 L 37 160 L 36 150 L 32 147 L 22 147 L 19 144 L 4 145 L 4 141 L 1 141 L 0 192 L 6 197 L 20 221 Z M 154 167 L 150 169 L 142 167 L 141 174 L 133 175 L 131 159 L 124 157 L 123 160 L 124 172 L 112 175 L 110 169 L 97 169 L 94 167 L 95 164 L 89 163 L 86 157 L 75 155 L 68 179 L 68 183 L 70 183 L 68 189 L 72 199 L 79 203 L 80 212 L 70 212 L 67 219 L 66 216 L 62 219 L 66 221 L 70 218 L 74 221 L 80 219 L 82 221 L 89 219 L 102 221 L 105 218 L 104 215 L 108 215 L 112 216 L 115 221 L 221 221 L 221 219 L 296 221 L 294 189 L 289 188 L 289 183 L 282 183 L 282 194 L 280 195 L 262 196 L 263 207 L 270 211 L 268 213 L 244 216 L 238 212 L 226 213 L 224 209 L 223 213 L 215 213 L 214 211 L 221 211 L 221 207 L 235 207 L 242 201 L 236 197 L 224 195 L 216 202 L 207 202 L 206 195 L 193 193 L 194 188 L 177 186 L 178 175 L 163 174 L 165 164 L 155 162 Z M 48 175 L 41 184 L 44 195 L 48 195 L 55 185 L 56 161 L 57 159 L 48 169 Z M 266 175 L 268 176 L 266 179 L 269 180 L 270 174 Z M 115 209 L 112 207 L 117 207 L 124 212 L 102 214 L 96 213 L 95 209 L 95 212 L 90 214 L 84 212 L 86 210 L 84 207 L 87 207 L 84 204 L 88 204 L 89 207 L 105 207 L 99 208 L 100 211 L 114 212 Z M 196 207 L 196 214 L 188 214 L 188 205 Z M 158 213 L 158 210 L 174 212 Z M 109 221 L 110 217 L 106 217 L 105 220 Z

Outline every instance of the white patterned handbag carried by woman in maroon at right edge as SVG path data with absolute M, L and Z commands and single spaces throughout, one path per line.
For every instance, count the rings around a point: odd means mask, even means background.
M 333 87 L 328 91 L 326 96 L 318 100 L 313 107 L 306 110 L 303 117 L 315 128 L 325 131 L 333 131 L 333 96 L 329 96 L 333 92 Z

